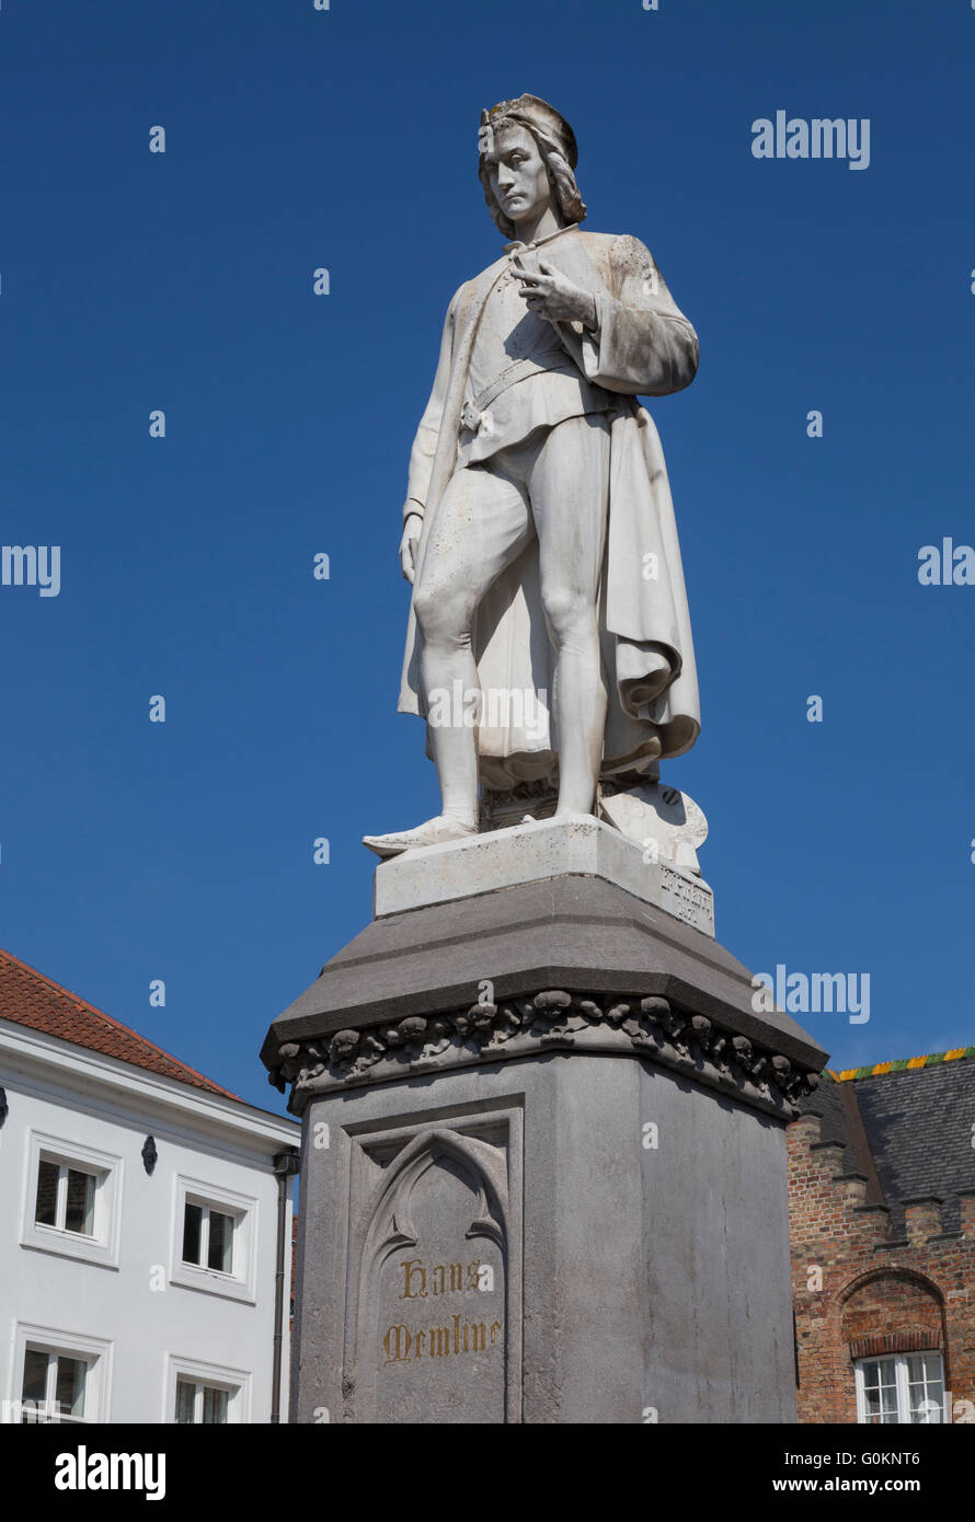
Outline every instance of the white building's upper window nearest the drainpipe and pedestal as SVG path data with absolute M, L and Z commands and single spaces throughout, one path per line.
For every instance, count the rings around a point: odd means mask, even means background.
M 257 1201 L 177 1178 L 171 1283 L 256 1301 Z

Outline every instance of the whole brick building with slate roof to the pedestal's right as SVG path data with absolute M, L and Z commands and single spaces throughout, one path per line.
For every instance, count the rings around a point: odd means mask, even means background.
M 975 1422 L 975 1047 L 824 1073 L 789 1126 L 800 1422 Z

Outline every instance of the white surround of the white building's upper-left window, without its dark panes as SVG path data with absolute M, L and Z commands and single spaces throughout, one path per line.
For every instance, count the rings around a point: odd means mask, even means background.
M 69 1169 L 94 1177 L 90 1236 L 84 1231 L 69 1231 L 66 1225 L 46 1225 L 37 1221 L 41 1161 L 58 1167 L 55 1222 L 64 1219 L 61 1205 L 67 1199 Z M 55 1253 L 59 1257 L 79 1257 L 85 1263 L 99 1263 L 102 1268 L 117 1269 L 122 1228 L 122 1178 L 123 1161 L 117 1154 L 102 1152 L 98 1148 L 55 1137 L 46 1131 L 30 1131 L 26 1149 L 20 1245 L 32 1251 Z

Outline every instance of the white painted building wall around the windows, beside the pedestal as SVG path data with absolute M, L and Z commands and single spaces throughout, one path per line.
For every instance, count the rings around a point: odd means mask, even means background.
M 67 1061 L 66 1061 L 67 1059 Z M 239 1371 L 236 1420 L 268 1422 L 274 1333 L 277 1180 L 271 1158 L 297 1146 L 299 1128 L 265 1111 L 222 1100 L 126 1064 L 79 1055 L 66 1043 L 0 1021 L 0 1084 L 9 1114 L 0 1129 L 0 1399 L 21 1393 L 18 1326 L 50 1327 L 108 1344 L 101 1368 L 110 1388 L 104 1420 L 171 1422 L 175 1382 L 171 1361 Z M 149 1177 L 140 1157 L 146 1134 L 158 1161 Z M 30 1138 L 35 1137 L 34 1148 Z M 37 1137 L 59 1138 L 70 1155 L 120 1158 L 116 1177 L 119 1231 L 105 1231 L 102 1262 L 58 1256 L 78 1250 L 73 1233 L 34 1228 Z M 49 1146 L 49 1143 L 46 1143 Z M 201 1195 L 213 1190 L 248 1208 L 250 1260 L 235 1262 L 235 1280 L 181 1269 L 183 1219 L 178 1180 Z M 282 1420 L 286 1420 L 288 1295 L 291 1283 L 291 1183 L 285 1253 Z M 99 1202 L 110 1205 L 111 1186 Z M 24 1245 L 24 1234 L 30 1239 Z M 75 1237 L 75 1240 L 67 1240 Z M 245 1245 L 245 1243 L 241 1243 Z M 84 1251 L 84 1243 L 81 1247 Z M 111 1263 L 117 1259 L 117 1266 Z M 222 1289 L 221 1294 L 207 1292 Z M 56 1341 L 56 1338 L 52 1338 Z M 23 1342 L 23 1338 L 21 1338 Z M 203 1373 L 200 1377 L 204 1377 Z

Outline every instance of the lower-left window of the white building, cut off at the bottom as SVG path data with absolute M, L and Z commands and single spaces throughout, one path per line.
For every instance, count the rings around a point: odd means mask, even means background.
M 105 1422 L 110 1364 L 110 1342 L 53 1327 L 18 1326 L 14 1367 L 20 1411 L 14 1420 Z

